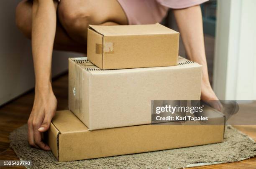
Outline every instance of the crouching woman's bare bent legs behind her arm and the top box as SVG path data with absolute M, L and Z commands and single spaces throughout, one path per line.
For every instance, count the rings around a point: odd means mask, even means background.
M 16 9 L 16 24 L 31 38 L 32 0 L 23 0 Z M 54 49 L 86 53 L 87 27 L 127 25 L 125 13 L 116 0 L 61 0 L 57 9 Z

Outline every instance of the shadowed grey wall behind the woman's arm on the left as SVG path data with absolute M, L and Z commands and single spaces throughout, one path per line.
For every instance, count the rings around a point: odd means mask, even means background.
M 34 87 L 31 41 L 15 26 L 15 7 L 20 0 L 0 0 L 0 105 Z M 52 75 L 67 71 L 68 57 L 81 55 L 53 54 Z

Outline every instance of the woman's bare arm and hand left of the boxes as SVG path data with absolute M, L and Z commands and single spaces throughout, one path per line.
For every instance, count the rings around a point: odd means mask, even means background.
M 28 119 L 28 142 L 44 150 L 50 148 L 42 142 L 41 132 L 49 129 L 57 106 L 51 87 L 56 5 L 54 0 L 33 0 L 32 7 L 32 54 L 36 85 L 33 109 Z

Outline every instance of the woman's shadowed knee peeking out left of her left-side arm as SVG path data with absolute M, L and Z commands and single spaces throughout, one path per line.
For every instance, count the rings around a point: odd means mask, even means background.
M 16 7 L 15 23 L 18 29 L 28 38 L 31 38 L 31 2 L 21 1 Z

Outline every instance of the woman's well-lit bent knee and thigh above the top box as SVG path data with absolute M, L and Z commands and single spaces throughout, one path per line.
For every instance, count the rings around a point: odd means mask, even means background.
M 117 0 L 60 0 L 58 18 L 70 37 L 87 42 L 88 25 L 127 25 Z

